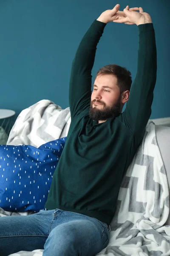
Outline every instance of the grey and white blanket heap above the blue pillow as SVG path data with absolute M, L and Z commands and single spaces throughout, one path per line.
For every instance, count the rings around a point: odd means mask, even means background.
M 70 108 L 62 110 L 54 102 L 42 99 L 19 114 L 6 144 L 39 148 L 49 141 L 66 137 L 70 123 Z

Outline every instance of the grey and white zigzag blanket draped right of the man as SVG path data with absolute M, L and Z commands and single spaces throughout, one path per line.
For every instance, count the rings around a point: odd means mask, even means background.
M 144 138 L 122 180 L 108 246 L 99 256 L 170 255 L 167 176 L 156 142 L 155 124 Z

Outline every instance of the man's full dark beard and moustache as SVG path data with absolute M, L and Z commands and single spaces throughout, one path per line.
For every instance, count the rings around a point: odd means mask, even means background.
M 96 107 L 93 108 L 93 103 L 94 102 L 99 102 L 103 104 L 103 109 L 100 110 Z M 120 115 L 120 98 L 118 99 L 118 101 L 116 102 L 116 104 L 114 104 L 112 107 L 106 107 L 104 102 L 101 102 L 99 100 L 94 99 L 93 101 L 91 101 L 91 105 L 90 105 L 90 111 L 89 111 L 89 116 L 91 119 L 95 120 L 95 121 L 99 121 L 99 120 L 107 120 L 109 118 L 115 118 L 116 116 Z

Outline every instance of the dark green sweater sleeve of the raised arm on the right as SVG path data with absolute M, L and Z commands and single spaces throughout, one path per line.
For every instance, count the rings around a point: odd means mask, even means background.
M 125 124 L 139 141 L 144 135 L 151 114 L 153 90 L 156 84 L 156 41 L 153 23 L 139 27 L 139 50 L 136 78 L 122 114 Z

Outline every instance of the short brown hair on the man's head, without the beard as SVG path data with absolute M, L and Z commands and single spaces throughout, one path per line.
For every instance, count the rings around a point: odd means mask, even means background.
M 125 67 L 121 67 L 116 64 L 110 64 L 105 67 L 101 67 L 97 72 L 97 76 L 99 75 L 108 75 L 113 74 L 117 77 L 118 86 L 120 88 L 120 93 L 123 93 L 125 90 L 130 91 L 130 87 L 132 84 L 132 77 L 129 70 Z

